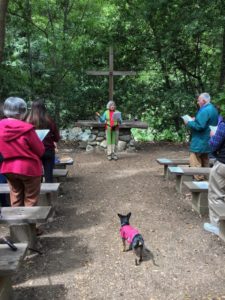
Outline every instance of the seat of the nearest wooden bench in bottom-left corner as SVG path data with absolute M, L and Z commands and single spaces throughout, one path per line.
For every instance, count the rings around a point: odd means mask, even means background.
M 12 251 L 8 245 L 0 244 L 0 277 L 11 276 L 17 271 L 27 250 L 27 243 L 16 243 L 17 251 Z

